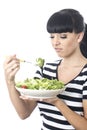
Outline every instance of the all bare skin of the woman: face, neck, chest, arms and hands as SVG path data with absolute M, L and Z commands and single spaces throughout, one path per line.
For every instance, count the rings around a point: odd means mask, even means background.
M 79 48 L 84 33 L 53 33 L 50 35 L 53 48 L 57 55 L 63 58 L 58 67 L 58 77 L 59 80 L 66 84 L 75 78 L 87 63 L 87 59 L 83 57 Z M 14 79 L 19 69 L 20 62 L 16 58 L 16 55 L 6 58 L 4 72 L 9 96 L 20 118 L 25 119 L 30 116 L 37 105 L 36 101 L 40 99 L 27 99 L 26 97 L 20 96 L 16 91 Z M 83 100 L 83 117 L 69 109 L 59 98 L 43 99 L 43 101 L 55 105 L 76 130 L 87 130 L 87 100 Z

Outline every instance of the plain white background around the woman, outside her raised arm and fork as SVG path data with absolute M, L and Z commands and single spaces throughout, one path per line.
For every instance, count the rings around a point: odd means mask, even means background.
M 13 108 L 4 80 L 3 61 L 9 54 L 28 60 L 56 59 L 46 22 L 52 13 L 63 8 L 79 10 L 87 21 L 86 0 L 0 0 L 0 129 L 40 130 L 37 108 L 26 120 L 21 120 Z

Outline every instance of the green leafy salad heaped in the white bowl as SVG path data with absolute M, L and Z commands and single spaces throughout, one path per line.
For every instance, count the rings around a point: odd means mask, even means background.
M 55 90 L 55 89 L 62 89 L 64 84 L 57 79 L 26 79 L 24 81 L 16 82 L 16 87 L 25 88 L 25 89 L 33 89 L 33 90 Z

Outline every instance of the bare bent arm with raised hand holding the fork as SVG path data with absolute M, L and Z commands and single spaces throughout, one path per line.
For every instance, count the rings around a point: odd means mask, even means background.
M 20 118 L 25 119 L 32 113 L 37 104 L 36 101 L 21 99 L 19 92 L 15 89 L 14 79 L 19 69 L 20 62 L 15 55 L 6 58 L 4 62 L 4 73 L 9 96 Z

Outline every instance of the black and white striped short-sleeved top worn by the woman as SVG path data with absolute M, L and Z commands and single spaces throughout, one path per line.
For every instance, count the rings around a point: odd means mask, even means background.
M 39 69 L 35 77 L 58 79 L 57 68 L 60 60 L 54 63 L 46 63 L 43 70 Z M 59 98 L 67 104 L 67 106 L 83 115 L 82 100 L 87 99 L 87 65 L 83 67 L 81 72 L 66 85 L 64 92 L 58 95 Z M 41 130 L 75 130 L 75 128 L 66 120 L 60 110 L 52 104 L 38 101 L 38 108 L 42 118 Z

